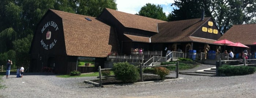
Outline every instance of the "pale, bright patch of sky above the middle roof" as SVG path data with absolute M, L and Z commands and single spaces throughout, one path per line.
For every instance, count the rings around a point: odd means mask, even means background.
M 118 11 L 130 14 L 138 13 L 146 3 L 161 5 L 163 12 L 168 15 L 173 10 L 171 4 L 174 3 L 174 0 L 116 0 Z

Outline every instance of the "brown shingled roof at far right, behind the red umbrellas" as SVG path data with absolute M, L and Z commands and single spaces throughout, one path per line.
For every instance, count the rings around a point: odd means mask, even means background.
M 255 45 L 256 24 L 240 24 L 232 26 L 218 40 L 227 39 L 232 42 L 240 42 L 244 45 Z

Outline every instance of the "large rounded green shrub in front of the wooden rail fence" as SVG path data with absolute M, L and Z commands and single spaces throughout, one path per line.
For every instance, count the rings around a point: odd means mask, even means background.
M 123 83 L 133 83 L 140 78 L 138 68 L 127 62 L 114 63 L 113 72 L 115 78 L 122 80 Z

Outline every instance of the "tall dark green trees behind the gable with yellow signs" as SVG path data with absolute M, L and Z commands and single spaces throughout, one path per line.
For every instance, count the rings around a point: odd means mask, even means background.
M 256 0 L 175 0 L 177 9 L 168 15 L 168 20 L 201 18 L 201 9 L 205 16 L 214 18 L 216 25 L 225 33 L 234 24 L 252 23 L 256 16 Z

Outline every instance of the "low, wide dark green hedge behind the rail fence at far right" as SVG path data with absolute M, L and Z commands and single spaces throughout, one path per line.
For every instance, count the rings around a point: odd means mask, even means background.
M 225 73 L 226 75 L 248 75 L 256 71 L 255 67 L 248 66 L 222 66 L 219 67 L 220 73 Z

